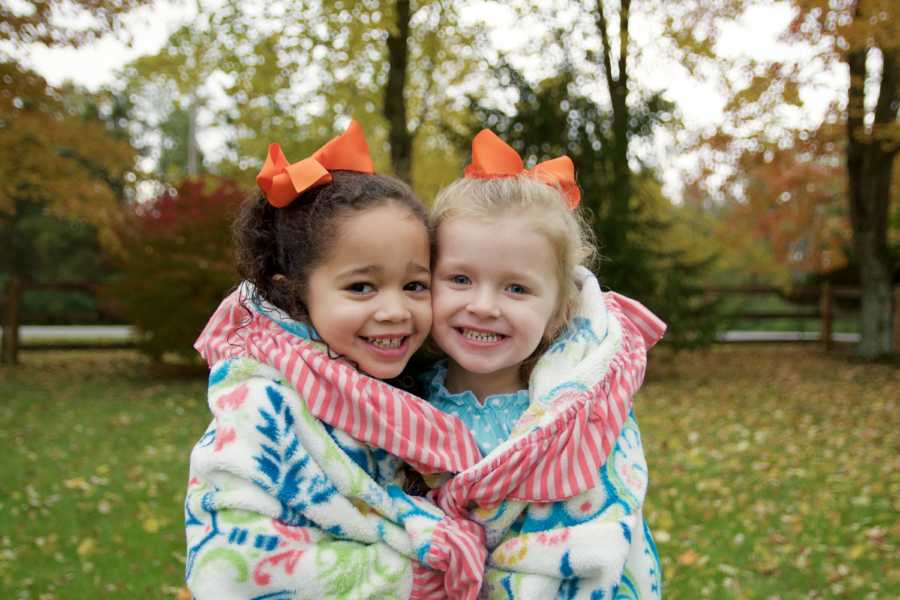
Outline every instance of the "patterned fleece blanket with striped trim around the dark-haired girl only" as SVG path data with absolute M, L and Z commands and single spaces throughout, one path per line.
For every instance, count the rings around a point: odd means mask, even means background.
M 214 418 L 185 501 L 194 597 L 475 598 L 482 528 L 395 480 L 400 461 L 426 473 L 474 465 L 471 434 L 330 358 L 249 291 L 226 298 L 196 343 Z

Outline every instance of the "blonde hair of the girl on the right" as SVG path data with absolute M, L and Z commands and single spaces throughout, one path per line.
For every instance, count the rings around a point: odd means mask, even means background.
M 572 318 L 579 295 L 575 267 L 591 266 L 597 252 L 594 235 L 584 216 L 569 209 L 562 190 L 527 175 L 457 179 L 438 193 L 428 221 L 432 239 L 437 240 L 438 227 L 446 221 L 507 215 L 533 217 L 535 231 L 547 239 L 556 259 L 558 301 L 539 354 Z M 436 248 L 432 257 L 438 251 Z

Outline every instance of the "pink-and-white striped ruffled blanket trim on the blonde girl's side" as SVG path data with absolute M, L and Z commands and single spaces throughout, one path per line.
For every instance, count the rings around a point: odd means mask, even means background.
M 430 497 L 447 514 L 464 516 L 471 502 L 495 506 L 505 499 L 553 502 L 599 483 L 606 462 L 644 379 L 647 350 L 665 323 L 640 303 L 605 293 L 607 309 L 622 325 L 622 347 L 592 389 L 548 425 L 523 435 L 506 451 L 457 474 Z

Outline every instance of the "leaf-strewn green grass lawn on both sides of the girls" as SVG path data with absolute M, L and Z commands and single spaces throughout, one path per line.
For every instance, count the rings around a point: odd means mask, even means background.
M 129 351 L 0 368 L 0 598 L 176 598 L 205 377 Z M 900 595 L 900 369 L 653 351 L 637 400 L 667 598 Z

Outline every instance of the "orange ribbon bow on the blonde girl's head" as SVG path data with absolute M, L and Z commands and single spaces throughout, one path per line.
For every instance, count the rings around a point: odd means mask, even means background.
M 472 163 L 464 171 L 465 177 L 495 179 L 515 177 L 524 173 L 546 184 L 559 186 L 566 197 L 566 204 L 575 210 L 581 202 L 581 190 L 575 181 L 575 164 L 568 156 L 545 160 L 533 169 L 526 169 L 522 157 L 512 146 L 501 140 L 490 129 L 482 129 L 472 140 Z

